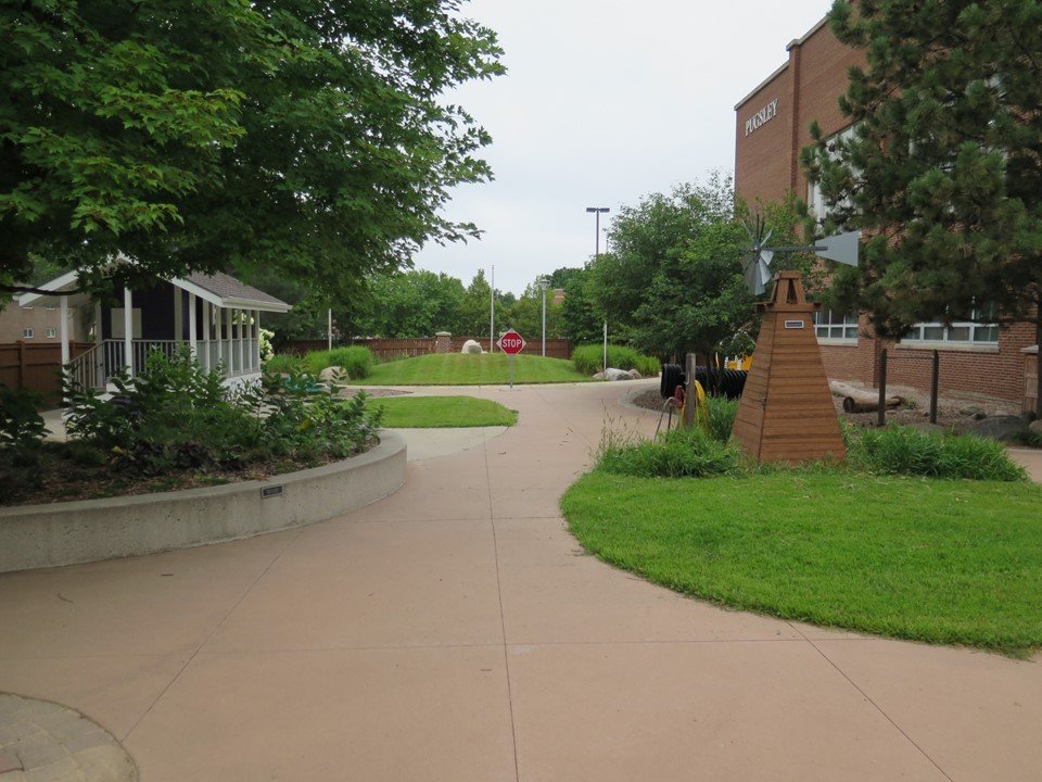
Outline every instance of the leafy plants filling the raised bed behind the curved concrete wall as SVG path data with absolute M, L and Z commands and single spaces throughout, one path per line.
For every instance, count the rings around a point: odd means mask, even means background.
M 364 398 L 314 393 L 308 375 L 293 374 L 291 381 L 267 374 L 260 387 L 232 392 L 187 350 L 170 357 L 156 352 L 134 382 L 114 379 L 117 390 L 109 401 L 68 381 L 66 428 L 118 468 L 147 476 L 238 469 L 276 458 L 314 464 L 376 441 L 380 418 L 366 413 Z M 86 461 L 82 454 L 79 461 Z

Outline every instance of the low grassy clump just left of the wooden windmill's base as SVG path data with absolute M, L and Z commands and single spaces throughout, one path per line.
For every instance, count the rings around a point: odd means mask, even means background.
M 657 440 L 637 442 L 608 436 L 597 456 L 597 469 L 636 478 L 727 475 L 741 462 L 735 445 L 714 440 L 696 427 L 672 429 Z

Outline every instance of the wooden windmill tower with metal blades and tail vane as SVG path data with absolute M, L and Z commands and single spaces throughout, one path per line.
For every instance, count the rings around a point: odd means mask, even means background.
M 758 231 L 759 236 L 759 231 Z M 814 247 L 766 249 L 753 239 L 746 278 L 754 293 L 771 279 L 775 252 L 810 251 L 856 264 L 860 231 L 822 239 Z M 806 301 L 799 272 L 780 272 L 771 300 L 757 304 L 763 324 L 733 436 L 760 462 L 842 459 L 847 455 L 814 330 L 818 304 Z

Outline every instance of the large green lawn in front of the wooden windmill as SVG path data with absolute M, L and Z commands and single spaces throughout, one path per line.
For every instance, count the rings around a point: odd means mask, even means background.
M 593 472 L 561 506 L 601 559 L 735 608 L 1016 656 L 1042 646 L 1037 484 Z

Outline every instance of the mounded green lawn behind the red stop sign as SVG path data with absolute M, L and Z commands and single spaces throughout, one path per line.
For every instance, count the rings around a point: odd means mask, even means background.
M 543 356 L 517 356 L 516 383 L 585 382 L 570 361 Z M 503 386 L 510 381 L 503 353 L 467 355 L 444 353 L 377 364 L 369 377 L 355 386 Z

